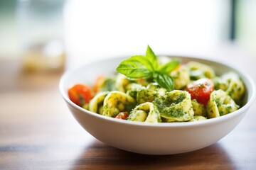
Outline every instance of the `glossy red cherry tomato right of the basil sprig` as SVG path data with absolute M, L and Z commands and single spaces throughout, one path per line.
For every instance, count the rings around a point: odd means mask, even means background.
M 193 81 L 186 87 L 186 91 L 191 94 L 192 99 L 196 99 L 198 103 L 206 105 L 210 99 L 210 94 L 214 90 L 213 81 L 210 79 L 198 79 Z

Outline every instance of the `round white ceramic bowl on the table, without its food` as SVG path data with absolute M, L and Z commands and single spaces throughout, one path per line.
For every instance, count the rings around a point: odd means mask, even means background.
M 92 84 L 99 74 L 114 74 L 124 58 L 85 64 L 63 74 L 60 93 L 78 123 L 92 136 L 108 145 L 141 154 L 177 154 L 191 152 L 217 142 L 235 128 L 255 97 L 255 84 L 247 74 L 220 62 L 181 57 L 182 62 L 198 61 L 210 65 L 217 74 L 237 72 L 245 83 L 244 106 L 219 118 L 186 123 L 141 123 L 109 118 L 87 111 L 68 98 L 68 88 L 77 83 Z

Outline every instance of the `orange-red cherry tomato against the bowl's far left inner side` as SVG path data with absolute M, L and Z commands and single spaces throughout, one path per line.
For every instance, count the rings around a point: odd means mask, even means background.
M 92 90 L 90 86 L 85 84 L 75 84 L 68 89 L 68 96 L 78 106 L 83 106 L 85 103 L 89 103 L 92 99 Z

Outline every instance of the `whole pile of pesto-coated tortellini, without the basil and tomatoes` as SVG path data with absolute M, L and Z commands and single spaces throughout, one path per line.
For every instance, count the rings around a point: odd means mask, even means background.
M 170 72 L 174 90 L 168 91 L 148 79 L 128 79 L 123 74 L 101 77 L 92 100 L 83 108 L 116 118 L 148 123 L 188 122 L 216 118 L 240 106 L 245 86 L 238 74 L 217 76 L 212 67 L 200 62 L 182 64 Z M 191 98 L 188 84 L 200 79 L 213 81 L 213 91 L 203 104 Z

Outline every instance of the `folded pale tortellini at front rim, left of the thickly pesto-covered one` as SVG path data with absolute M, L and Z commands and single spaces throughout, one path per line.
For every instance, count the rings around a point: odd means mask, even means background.
M 151 102 L 139 104 L 135 107 L 127 120 L 140 121 L 147 123 L 161 123 L 160 113 Z

